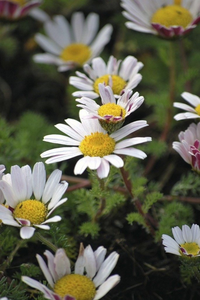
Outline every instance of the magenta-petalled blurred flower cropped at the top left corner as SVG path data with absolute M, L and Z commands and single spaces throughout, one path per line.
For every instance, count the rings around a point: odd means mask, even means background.
M 0 0 L 0 17 L 18 19 L 27 15 L 41 0 Z

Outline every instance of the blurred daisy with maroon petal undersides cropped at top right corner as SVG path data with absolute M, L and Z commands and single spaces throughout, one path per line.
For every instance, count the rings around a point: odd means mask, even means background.
M 199 0 L 122 0 L 129 29 L 164 38 L 182 36 L 200 21 Z

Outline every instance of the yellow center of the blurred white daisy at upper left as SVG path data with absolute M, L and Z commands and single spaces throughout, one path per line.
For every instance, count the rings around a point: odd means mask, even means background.
M 60 53 L 60 58 L 64 61 L 75 61 L 83 65 L 90 57 L 91 49 L 85 44 L 74 43 L 66 46 Z

